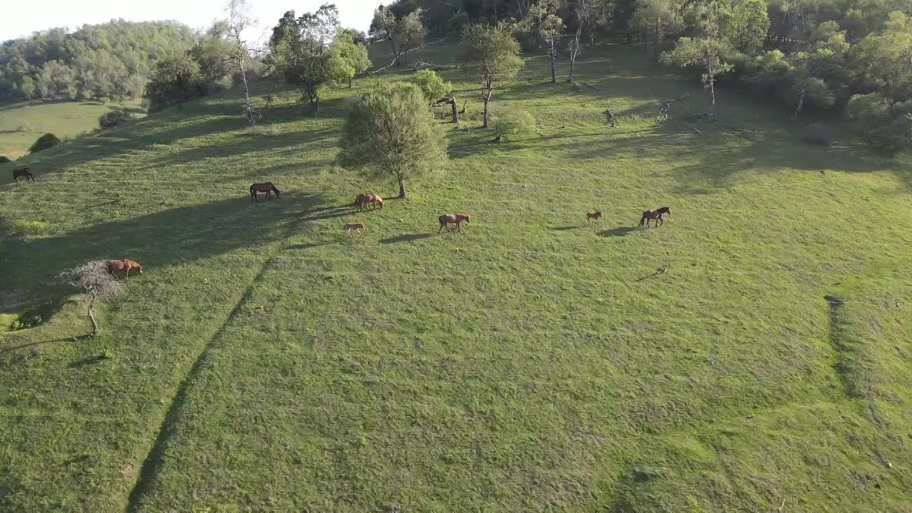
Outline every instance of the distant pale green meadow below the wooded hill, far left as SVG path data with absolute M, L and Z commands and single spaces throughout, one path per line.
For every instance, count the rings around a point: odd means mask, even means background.
M 23 102 L 0 105 L 0 155 L 18 159 L 47 132 L 60 139 L 98 128 L 98 116 L 111 110 L 138 109 L 139 102 Z

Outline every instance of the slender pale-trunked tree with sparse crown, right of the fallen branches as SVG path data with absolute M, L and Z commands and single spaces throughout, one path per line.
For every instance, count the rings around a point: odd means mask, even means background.
M 731 69 L 731 64 L 722 60 L 726 42 L 719 37 L 719 4 L 710 2 L 702 13 L 702 35 L 681 37 L 670 52 L 662 53 L 662 63 L 682 67 L 703 69 L 703 86 L 710 91 L 710 119 L 715 117 L 716 77 Z

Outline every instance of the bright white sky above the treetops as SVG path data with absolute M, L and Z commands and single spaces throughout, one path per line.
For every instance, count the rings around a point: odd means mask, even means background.
M 316 11 L 321 4 L 335 3 L 342 26 L 367 32 L 374 9 L 381 0 L 249 0 L 259 23 L 246 38 L 252 44 L 268 39 L 266 33 L 285 11 L 298 15 Z M 389 2 L 388 2 L 389 3 Z M 112 18 L 128 21 L 176 20 L 193 28 L 205 28 L 224 17 L 225 0 L 26 0 L 4 2 L 0 16 L 0 40 L 28 36 L 38 30 L 105 23 Z

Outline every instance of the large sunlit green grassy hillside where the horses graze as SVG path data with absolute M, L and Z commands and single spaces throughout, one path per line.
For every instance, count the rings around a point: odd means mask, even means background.
M 0 314 L 36 324 L 0 341 L 0 510 L 909 511 L 908 163 L 726 91 L 687 121 L 701 89 L 633 47 L 582 58 L 598 89 L 546 68 L 495 92 L 540 122 L 501 144 L 446 71 L 450 168 L 376 212 L 349 205 L 396 186 L 334 165 L 339 127 L 404 75 L 316 117 L 281 94 L 269 131 L 224 96 L 37 155 L 0 185 Z M 103 257 L 146 272 L 80 340 L 53 278 Z

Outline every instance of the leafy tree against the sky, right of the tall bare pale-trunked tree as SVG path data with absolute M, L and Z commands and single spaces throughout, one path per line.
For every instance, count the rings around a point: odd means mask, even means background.
M 315 113 L 324 89 L 345 79 L 350 69 L 337 47 L 331 45 L 337 31 L 338 11 L 330 4 L 296 19 L 295 11 L 288 11 L 270 38 L 276 71 L 302 89 L 302 99 Z

